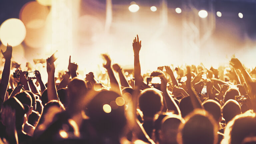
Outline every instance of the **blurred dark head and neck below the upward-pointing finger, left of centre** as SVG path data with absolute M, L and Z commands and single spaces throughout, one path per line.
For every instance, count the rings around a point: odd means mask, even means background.
M 87 88 L 85 81 L 73 78 L 68 83 L 68 97 L 69 97 L 69 105 L 67 110 L 76 113 L 78 110 L 82 109 L 81 105 L 78 105 L 79 102 L 83 99 L 85 94 L 87 93 Z

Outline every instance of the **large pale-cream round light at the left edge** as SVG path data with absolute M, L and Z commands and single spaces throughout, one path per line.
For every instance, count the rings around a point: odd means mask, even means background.
M 4 21 L 0 26 L 0 40 L 5 46 L 19 45 L 26 36 L 26 28 L 23 22 L 16 18 Z

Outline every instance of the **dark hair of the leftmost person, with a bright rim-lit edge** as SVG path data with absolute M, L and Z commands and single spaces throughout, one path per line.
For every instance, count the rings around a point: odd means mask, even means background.
M 11 97 L 4 102 L 3 107 L 6 107 L 6 106 L 9 106 L 15 110 L 16 128 L 17 130 L 21 130 L 24 122 L 24 115 L 25 115 L 25 109 L 22 103 L 16 97 Z

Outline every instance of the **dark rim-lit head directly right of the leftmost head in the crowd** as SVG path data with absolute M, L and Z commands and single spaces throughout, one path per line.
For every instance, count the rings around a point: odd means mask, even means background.
M 25 112 L 27 114 L 27 118 L 28 116 L 32 113 L 32 98 L 30 96 L 29 93 L 27 93 L 26 91 L 17 93 L 15 95 L 15 97 L 22 103 L 22 105 L 25 108 Z

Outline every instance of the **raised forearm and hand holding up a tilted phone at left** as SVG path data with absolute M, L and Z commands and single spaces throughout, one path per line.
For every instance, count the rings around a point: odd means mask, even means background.
M 54 79 L 54 72 L 55 72 L 54 63 L 50 64 L 47 59 L 46 64 L 47 64 L 46 69 L 48 73 L 48 83 L 47 83 L 48 101 L 59 100 L 58 94 L 56 91 L 56 86 L 55 86 L 55 79 Z

